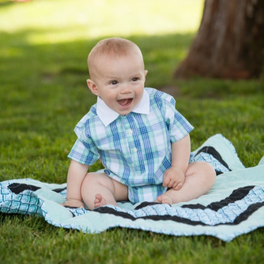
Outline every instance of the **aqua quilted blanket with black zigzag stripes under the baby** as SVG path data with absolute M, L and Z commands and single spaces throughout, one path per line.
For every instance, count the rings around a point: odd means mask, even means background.
M 245 168 L 227 139 L 217 134 L 192 153 L 215 166 L 213 188 L 198 199 L 172 206 L 119 203 L 93 211 L 65 208 L 66 184 L 13 179 L 0 182 L 0 211 L 37 214 L 58 227 L 99 233 L 111 227 L 175 236 L 211 235 L 223 241 L 264 226 L 264 158 Z

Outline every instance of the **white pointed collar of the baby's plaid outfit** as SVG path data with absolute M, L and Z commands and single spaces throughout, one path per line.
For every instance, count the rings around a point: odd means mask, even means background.
M 106 106 L 105 102 L 100 97 L 97 97 L 96 112 L 105 126 L 109 125 L 119 116 L 119 113 Z M 144 90 L 142 99 L 134 107 L 132 112 L 141 114 L 150 113 L 150 96 L 146 90 Z

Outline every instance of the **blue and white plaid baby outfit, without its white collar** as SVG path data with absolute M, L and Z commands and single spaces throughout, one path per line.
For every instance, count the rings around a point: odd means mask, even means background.
M 106 174 L 128 186 L 134 203 L 154 201 L 166 191 L 162 180 L 171 163 L 171 143 L 193 129 L 175 109 L 173 97 L 153 88 L 145 90 L 149 114 L 119 115 L 105 126 L 96 105 L 92 106 L 74 129 L 78 139 L 68 155 L 87 165 L 100 159 Z

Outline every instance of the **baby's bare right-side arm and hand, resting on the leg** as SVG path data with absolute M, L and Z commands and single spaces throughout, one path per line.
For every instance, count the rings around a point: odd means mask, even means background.
M 163 186 L 179 190 L 184 181 L 191 153 L 190 135 L 171 144 L 171 167 L 164 172 Z

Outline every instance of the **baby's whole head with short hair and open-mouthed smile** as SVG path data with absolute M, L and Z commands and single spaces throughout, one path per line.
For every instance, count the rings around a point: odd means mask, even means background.
M 147 70 L 139 47 L 121 38 L 100 41 L 88 56 L 88 87 L 108 107 L 128 114 L 140 102 Z

